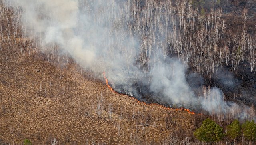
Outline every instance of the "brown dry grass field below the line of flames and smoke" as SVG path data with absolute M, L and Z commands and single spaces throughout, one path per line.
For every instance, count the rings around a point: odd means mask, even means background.
M 198 115 L 116 94 L 72 61 L 61 69 L 39 50 L 20 55 L 19 40 L 14 39 L 9 50 L 8 39 L 0 41 L 0 142 L 27 138 L 33 144 L 50 144 L 56 138 L 59 144 L 163 144 L 192 136 Z M 98 115 L 101 94 L 103 113 Z

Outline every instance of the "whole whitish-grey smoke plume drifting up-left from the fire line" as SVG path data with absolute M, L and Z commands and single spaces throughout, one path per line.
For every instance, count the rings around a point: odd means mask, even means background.
M 58 46 L 58 53 L 68 54 L 84 70 L 99 75 L 105 71 L 117 91 L 144 99 L 141 92 L 146 88 L 157 102 L 208 112 L 239 108 L 225 102 L 216 87 L 200 93 L 190 87 L 186 61 L 172 55 L 180 35 L 168 3 L 155 12 L 153 4 L 136 0 L 4 2 L 19 17 L 15 20 L 24 35 L 44 52 Z

